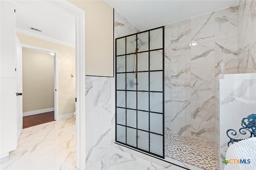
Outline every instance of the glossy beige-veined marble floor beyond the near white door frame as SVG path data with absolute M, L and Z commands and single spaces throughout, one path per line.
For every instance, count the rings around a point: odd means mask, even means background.
M 75 125 L 72 117 L 23 129 L 17 149 L 0 169 L 76 169 Z

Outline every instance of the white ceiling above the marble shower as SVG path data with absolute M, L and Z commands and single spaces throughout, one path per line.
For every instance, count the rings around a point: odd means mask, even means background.
M 104 0 L 140 30 L 238 4 L 238 0 Z

